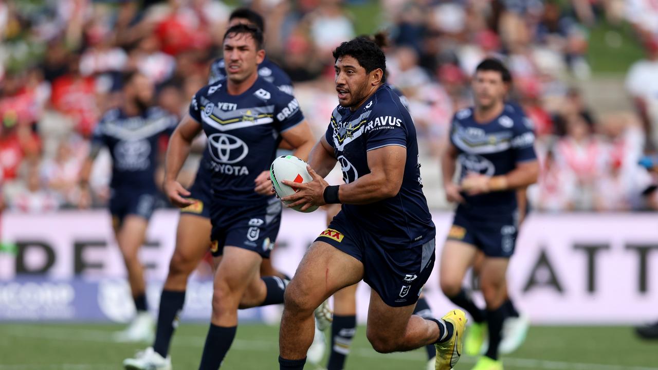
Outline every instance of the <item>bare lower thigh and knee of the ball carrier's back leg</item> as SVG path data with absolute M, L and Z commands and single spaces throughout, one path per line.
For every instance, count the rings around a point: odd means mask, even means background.
M 415 304 L 391 307 L 374 289 L 371 290 L 366 331 L 368 340 L 372 342 L 377 339 L 395 339 L 404 336 L 415 307 Z

